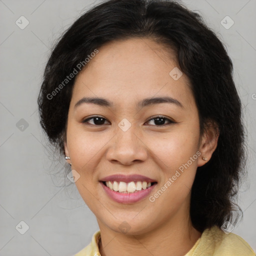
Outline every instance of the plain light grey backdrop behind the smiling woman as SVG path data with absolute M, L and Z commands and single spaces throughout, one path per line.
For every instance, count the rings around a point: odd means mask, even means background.
M 94 2 L 98 1 L 0 0 L 0 255 L 70 256 L 86 246 L 98 230 L 75 184 L 63 179 L 64 167 L 68 168 L 64 159 L 59 164 L 53 160 L 36 110 L 50 47 Z M 244 218 L 232 232 L 255 250 L 256 0 L 183 3 L 203 15 L 233 61 L 248 132 L 249 159 L 248 177 L 238 200 Z M 21 15 L 29 21 L 24 29 L 15 23 Z M 226 15 L 234 21 L 229 29 L 220 23 Z M 21 220 L 29 226 L 24 234 L 17 231 L 21 228 L 15 228 Z

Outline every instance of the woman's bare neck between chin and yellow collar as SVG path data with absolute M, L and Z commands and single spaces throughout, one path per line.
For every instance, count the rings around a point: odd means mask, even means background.
M 169 221 L 141 234 L 114 231 L 98 220 L 101 256 L 185 255 L 201 236 L 188 216 L 176 212 Z

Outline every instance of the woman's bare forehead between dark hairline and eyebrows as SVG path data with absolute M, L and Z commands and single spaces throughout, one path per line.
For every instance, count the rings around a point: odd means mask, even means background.
M 193 104 L 187 77 L 174 80 L 174 51 L 149 38 L 112 41 L 101 46 L 77 75 L 70 105 L 83 96 L 100 96 L 122 105 L 145 97 L 169 95 Z M 174 69 L 176 70 L 176 69 Z

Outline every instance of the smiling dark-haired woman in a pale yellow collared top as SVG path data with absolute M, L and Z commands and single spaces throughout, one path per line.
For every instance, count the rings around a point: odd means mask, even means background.
M 198 14 L 95 6 L 56 44 L 38 105 L 100 229 L 76 256 L 255 255 L 230 232 L 245 158 L 232 63 Z

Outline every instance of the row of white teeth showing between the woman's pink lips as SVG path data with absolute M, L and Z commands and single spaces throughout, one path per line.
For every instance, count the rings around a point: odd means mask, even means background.
M 134 193 L 140 190 L 145 190 L 157 182 L 146 182 L 146 181 L 101 181 L 103 185 L 107 186 L 110 190 L 119 193 Z

